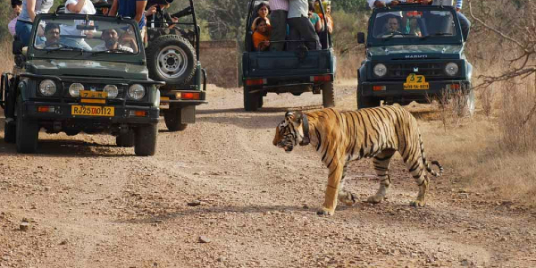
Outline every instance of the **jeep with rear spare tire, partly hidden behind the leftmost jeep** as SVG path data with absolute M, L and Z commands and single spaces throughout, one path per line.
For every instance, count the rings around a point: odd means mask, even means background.
M 172 0 L 151 2 L 165 4 Z M 199 62 L 199 36 L 193 0 L 171 15 L 157 7 L 157 13 L 147 21 L 147 68 L 151 79 L 165 82 L 160 88 L 160 108 L 168 130 L 186 129 L 188 123 L 196 121 L 196 106 L 206 104 L 206 71 Z

